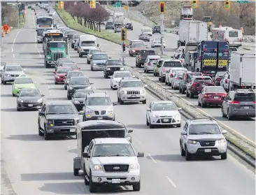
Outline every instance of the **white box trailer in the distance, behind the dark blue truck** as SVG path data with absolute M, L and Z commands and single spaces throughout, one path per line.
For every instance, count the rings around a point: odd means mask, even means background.
M 199 44 L 208 40 L 207 23 L 197 20 L 180 20 L 178 48 L 188 43 Z

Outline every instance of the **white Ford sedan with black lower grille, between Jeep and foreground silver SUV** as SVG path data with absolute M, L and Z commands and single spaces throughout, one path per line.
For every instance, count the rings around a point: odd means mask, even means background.
M 147 108 L 146 124 L 150 129 L 155 126 L 176 125 L 180 127 L 180 113 L 176 104 L 173 101 L 153 101 Z

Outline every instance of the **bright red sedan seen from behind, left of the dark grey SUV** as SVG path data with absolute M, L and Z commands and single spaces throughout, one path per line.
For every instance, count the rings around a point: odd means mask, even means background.
M 226 91 L 220 86 L 206 86 L 198 95 L 198 106 L 205 108 L 207 105 L 222 105 Z

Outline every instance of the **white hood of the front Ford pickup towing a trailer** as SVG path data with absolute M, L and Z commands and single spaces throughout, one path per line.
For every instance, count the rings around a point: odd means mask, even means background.
M 138 164 L 136 157 L 92 157 L 93 164 Z

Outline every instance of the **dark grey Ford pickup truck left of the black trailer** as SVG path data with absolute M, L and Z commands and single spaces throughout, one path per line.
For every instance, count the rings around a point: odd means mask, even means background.
M 47 101 L 38 112 L 38 135 L 45 140 L 54 135 L 76 136 L 79 121 L 78 110 L 71 101 Z

